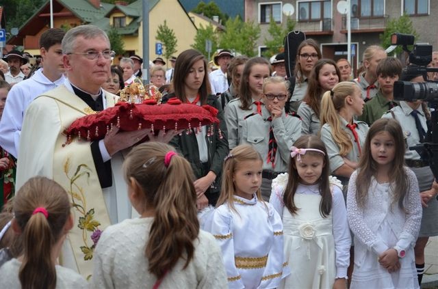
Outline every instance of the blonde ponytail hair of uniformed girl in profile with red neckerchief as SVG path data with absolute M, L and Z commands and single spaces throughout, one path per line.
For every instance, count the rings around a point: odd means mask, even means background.
M 333 90 L 325 92 L 321 101 L 321 127 L 330 124 L 332 137 L 339 146 L 339 154 L 346 156 L 353 148 L 350 136 L 342 129 L 341 120 L 339 120 L 339 110 L 345 106 L 347 96 L 355 94 L 355 83 L 344 81 L 337 83 Z M 320 131 L 321 133 L 321 131 Z M 320 134 L 319 133 L 319 134 Z

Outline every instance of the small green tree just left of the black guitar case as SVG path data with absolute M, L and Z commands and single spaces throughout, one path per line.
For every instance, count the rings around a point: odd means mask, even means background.
M 268 35 L 270 39 L 265 38 L 266 52 L 263 53 L 264 57 L 271 57 L 283 51 L 284 38 L 289 31 L 293 31 L 295 27 L 295 20 L 292 18 L 287 18 L 286 28 L 283 29 L 280 24 L 276 23 L 273 18 L 271 18 L 268 28 Z

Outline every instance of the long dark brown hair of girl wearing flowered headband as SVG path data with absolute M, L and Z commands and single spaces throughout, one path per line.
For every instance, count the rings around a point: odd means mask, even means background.
M 317 150 L 322 150 L 322 152 L 324 152 L 324 156 L 320 152 L 312 151 L 306 152 L 306 154 L 322 156 L 322 158 L 324 159 L 324 167 L 322 168 L 320 176 L 319 189 L 322 196 L 320 202 L 320 215 L 325 218 L 330 215 L 332 206 L 331 190 L 329 184 L 330 166 L 326 146 L 324 146 L 322 140 L 315 135 L 302 135 L 301 137 L 298 137 L 298 139 L 295 141 L 294 147 L 314 148 Z M 292 159 L 292 157 L 289 159 L 288 173 L 289 178 L 287 178 L 287 186 L 283 195 L 283 202 L 287 210 L 289 210 L 289 212 L 294 215 L 300 209 L 296 207 L 294 202 L 294 196 L 296 193 L 296 188 L 298 187 L 298 184 L 300 182 L 300 176 L 298 176 L 295 159 Z

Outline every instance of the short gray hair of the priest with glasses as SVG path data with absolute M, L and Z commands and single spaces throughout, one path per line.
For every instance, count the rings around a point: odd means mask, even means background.
M 67 31 L 61 43 L 62 53 L 72 53 L 73 49 L 75 49 L 76 38 L 78 38 L 79 36 L 82 36 L 87 40 L 102 37 L 105 38 L 108 46 L 110 46 L 110 39 L 108 38 L 105 31 L 93 25 L 81 25 Z

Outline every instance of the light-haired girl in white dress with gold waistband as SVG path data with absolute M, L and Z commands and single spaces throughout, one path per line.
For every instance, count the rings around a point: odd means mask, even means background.
M 229 288 L 277 288 L 289 274 L 280 216 L 261 198 L 262 166 L 252 146 L 231 150 L 217 208 L 203 222 L 222 249 Z

